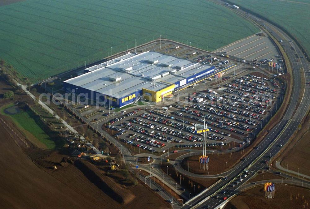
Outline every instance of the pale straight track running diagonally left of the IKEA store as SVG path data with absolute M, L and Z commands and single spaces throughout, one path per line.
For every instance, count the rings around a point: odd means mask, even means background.
M 25 85 L 21 85 L 20 83 L 17 83 L 17 82 L 16 82 L 16 84 L 18 86 L 20 86 L 24 90 L 24 92 L 26 92 L 33 100 L 37 101 L 39 105 L 41 105 L 49 113 L 54 115 L 54 111 L 51 108 L 49 108 L 46 104 L 44 104 L 41 100 L 37 100 L 37 98 L 31 92 L 29 92 L 27 90 L 27 87 Z M 78 134 L 78 131 L 76 131 L 72 126 L 70 126 L 67 122 L 65 122 L 63 119 L 61 119 L 57 114 L 55 114 L 54 117 L 59 119 L 64 124 L 64 126 L 67 127 L 68 130 L 72 131 L 74 134 Z M 86 140 L 85 140 L 85 138 L 83 136 L 80 136 L 80 139 L 83 142 L 86 142 Z M 91 143 L 86 143 L 86 144 L 87 144 L 87 146 L 91 147 L 95 151 L 96 155 L 98 155 L 100 157 L 103 157 L 103 158 L 106 157 L 105 155 L 102 155 L 101 152 L 94 145 L 92 145 Z

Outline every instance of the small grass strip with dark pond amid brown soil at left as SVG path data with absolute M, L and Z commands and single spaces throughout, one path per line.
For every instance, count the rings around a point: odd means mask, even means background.
M 40 127 L 40 121 L 35 120 L 37 116 L 29 109 L 26 111 L 20 109 L 16 114 L 7 114 L 5 109 L 11 108 L 14 104 L 3 106 L 0 111 L 1 114 L 11 117 L 13 122 L 25 134 L 27 139 L 36 144 L 40 148 L 54 149 L 56 144 Z M 7 111 L 12 112 L 12 111 Z M 42 123 L 42 122 L 41 122 Z

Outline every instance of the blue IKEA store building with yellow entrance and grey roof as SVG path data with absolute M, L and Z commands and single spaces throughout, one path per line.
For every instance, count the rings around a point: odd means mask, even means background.
M 160 102 L 166 95 L 210 75 L 214 66 L 201 65 L 157 52 L 127 53 L 85 69 L 64 81 L 64 89 L 114 107 L 145 99 Z

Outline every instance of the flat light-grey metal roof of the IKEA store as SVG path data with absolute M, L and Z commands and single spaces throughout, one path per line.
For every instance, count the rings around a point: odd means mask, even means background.
M 121 58 L 90 67 L 88 69 L 91 69 L 91 72 L 64 82 L 120 98 L 142 88 L 159 91 L 169 86 L 164 82 L 173 84 L 210 68 L 197 62 L 151 51 L 137 55 L 129 53 Z M 153 64 L 154 61 L 158 62 Z M 172 65 L 169 66 L 170 64 Z M 183 69 L 179 69 L 181 67 Z M 110 79 L 116 77 L 121 77 L 121 81 Z

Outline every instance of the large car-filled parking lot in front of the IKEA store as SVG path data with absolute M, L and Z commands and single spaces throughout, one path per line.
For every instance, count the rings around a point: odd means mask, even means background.
M 168 147 L 202 148 L 203 136 L 195 134 L 195 124 L 204 122 L 210 126 L 208 146 L 231 141 L 241 146 L 251 143 L 281 93 L 275 79 L 260 74 L 247 71 L 235 78 L 227 74 L 227 79 L 216 88 L 180 98 L 183 104 L 173 103 L 165 113 L 160 105 L 148 107 L 146 113 L 134 110 L 108 122 L 106 128 L 119 130 L 114 137 L 123 143 L 150 152 Z

